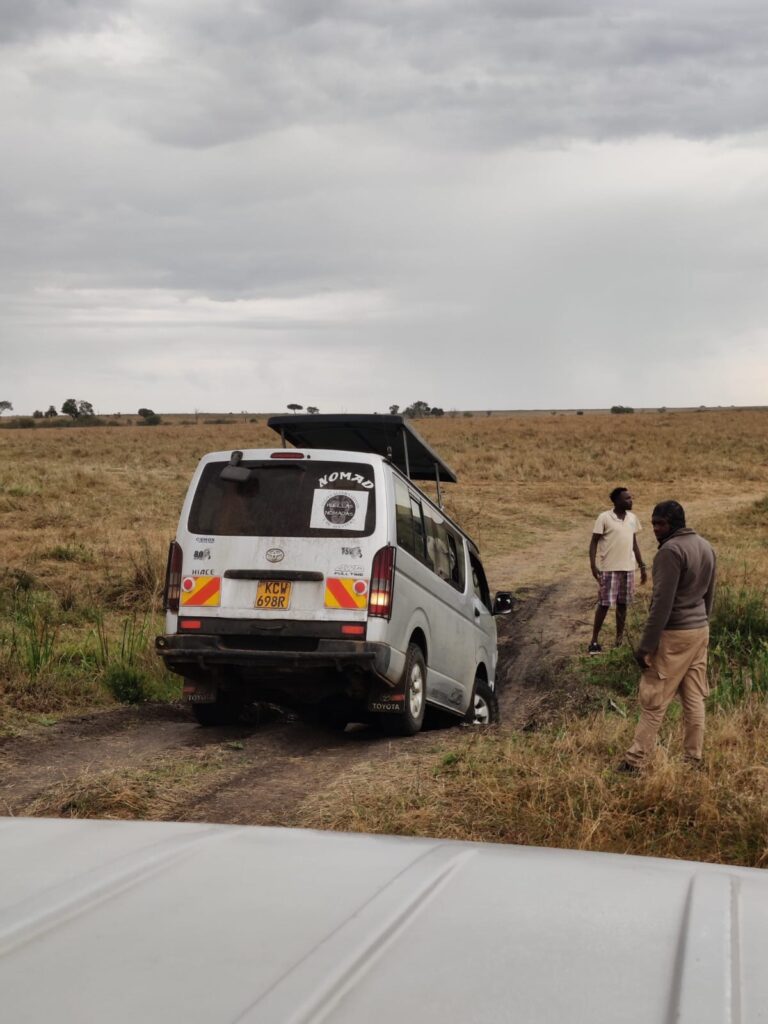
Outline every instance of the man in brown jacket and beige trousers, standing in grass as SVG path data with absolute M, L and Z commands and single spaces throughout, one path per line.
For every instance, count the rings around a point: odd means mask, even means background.
M 620 771 L 637 771 L 653 751 L 656 733 L 674 697 L 683 706 L 686 759 L 700 763 L 703 746 L 707 649 L 715 598 L 715 552 L 685 525 L 678 502 L 662 502 L 651 516 L 658 552 L 653 559 L 653 596 L 635 657 L 640 677 L 640 721 Z

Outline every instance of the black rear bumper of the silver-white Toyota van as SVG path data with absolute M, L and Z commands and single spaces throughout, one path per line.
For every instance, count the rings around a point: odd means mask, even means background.
M 171 672 L 186 675 L 189 670 L 206 672 L 226 668 L 249 672 L 300 673 L 327 669 L 338 672 L 362 671 L 384 678 L 389 668 L 387 644 L 367 640 L 307 638 L 314 649 L 259 649 L 252 638 L 233 634 L 188 636 L 169 634 L 155 640 L 155 649 Z M 298 646 L 298 644 L 293 645 Z

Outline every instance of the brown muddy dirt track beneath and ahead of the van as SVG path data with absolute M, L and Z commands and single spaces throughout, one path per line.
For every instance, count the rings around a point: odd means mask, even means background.
M 575 699 L 558 666 L 572 653 L 574 634 L 587 632 L 590 617 L 589 592 L 568 581 L 520 592 L 513 613 L 499 621 L 506 724 L 535 728 Z M 291 824 L 299 804 L 340 771 L 377 759 L 407 760 L 433 737 L 426 730 L 393 740 L 366 727 L 330 734 L 269 712 L 237 727 L 203 729 L 181 706 L 119 708 L 0 742 L 0 813 L 68 813 L 71 792 L 104 773 L 114 778 L 175 760 L 213 759 L 215 770 L 194 781 L 163 816 Z

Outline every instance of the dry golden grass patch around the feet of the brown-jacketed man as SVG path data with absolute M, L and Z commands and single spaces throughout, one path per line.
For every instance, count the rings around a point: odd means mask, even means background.
M 401 762 L 342 772 L 294 824 L 768 865 L 768 708 L 714 717 L 707 767 L 682 757 L 668 721 L 651 770 L 612 770 L 632 737 L 620 716 L 535 733 L 456 733 Z

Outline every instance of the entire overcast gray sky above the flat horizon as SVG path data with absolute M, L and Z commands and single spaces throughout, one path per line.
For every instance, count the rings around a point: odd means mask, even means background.
M 768 403 L 768 8 L 0 0 L 16 413 Z

